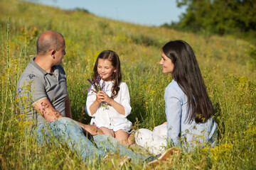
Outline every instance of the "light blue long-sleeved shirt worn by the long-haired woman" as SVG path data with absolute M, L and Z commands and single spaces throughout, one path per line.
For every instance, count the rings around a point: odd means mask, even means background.
M 173 79 L 164 93 L 167 119 L 167 140 L 176 147 L 191 150 L 196 145 L 215 147 L 218 133 L 213 118 L 206 123 L 188 123 L 188 98 Z

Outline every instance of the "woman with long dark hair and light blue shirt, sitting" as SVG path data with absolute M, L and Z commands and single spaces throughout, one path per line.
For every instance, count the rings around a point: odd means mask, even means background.
M 142 147 L 149 147 L 151 152 L 161 152 L 167 144 L 191 150 L 196 145 L 214 147 L 217 142 L 217 126 L 213 120 L 211 103 L 196 56 L 190 45 L 183 40 L 170 41 L 161 52 L 162 72 L 171 74 L 173 80 L 166 87 L 167 141 L 155 133 L 141 129 L 135 135 L 136 142 Z M 158 136 L 158 137 L 156 137 Z M 158 148 L 151 141 L 158 140 Z M 155 145 L 156 146 L 156 145 Z M 162 147 L 162 148 L 161 148 Z

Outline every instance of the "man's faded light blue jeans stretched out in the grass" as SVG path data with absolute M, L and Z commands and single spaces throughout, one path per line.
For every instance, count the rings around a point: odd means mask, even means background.
M 67 144 L 68 147 L 78 154 L 83 161 L 86 159 L 98 159 L 105 157 L 107 153 L 115 153 L 128 156 L 133 162 L 142 164 L 149 162 L 154 157 L 137 154 L 129 149 L 125 149 L 114 137 L 110 135 L 95 135 L 93 140 L 95 146 L 85 137 L 80 125 L 70 118 L 59 118 L 50 123 L 41 124 L 37 130 L 39 145 L 44 143 L 55 143 L 56 145 Z

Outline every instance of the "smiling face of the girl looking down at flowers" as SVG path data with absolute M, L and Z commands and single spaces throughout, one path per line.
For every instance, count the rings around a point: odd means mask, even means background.
M 107 59 L 98 60 L 97 72 L 98 74 L 100 74 L 100 77 L 102 77 L 104 81 L 111 81 L 112 75 L 116 71 L 117 70 L 114 69 L 110 60 L 107 60 Z

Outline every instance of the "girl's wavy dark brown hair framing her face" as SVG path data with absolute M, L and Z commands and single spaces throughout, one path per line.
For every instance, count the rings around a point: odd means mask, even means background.
M 112 50 L 105 50 L 100 52 L 100 55 L 98 55 L 97 60 L 95 62 L 95 67 L 93 68 L 93 78 L 96 79 L 98 72 L 97 72 L 97 64 L 99 59 L 107 59 L 111 62 L 114 69 L 116 69 L 116 72 L 112 74 L 111 80 L 114 81 L 114 84 L 112 86 L 112 94 L 111 98 L 114 98 L 117 96 L 119 91 L 119 83 L 122 81 L 122 72 L 121 72 L 121 66 L 120 66 L 120 60 L 116 52 Z

